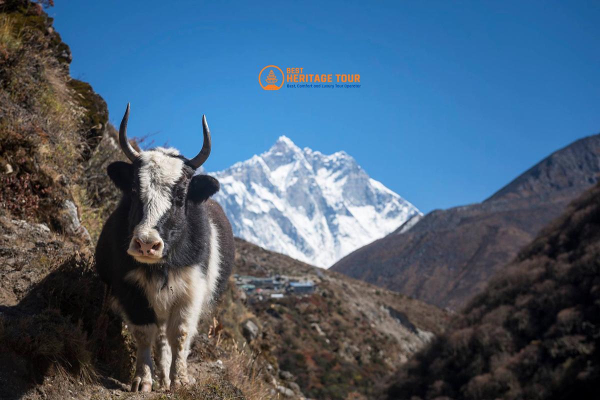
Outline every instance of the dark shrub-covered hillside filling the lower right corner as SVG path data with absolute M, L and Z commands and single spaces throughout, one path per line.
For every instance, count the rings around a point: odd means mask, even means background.
M 386 398 L 595 399 L 599 338 L 596 185 L 398 372 Z

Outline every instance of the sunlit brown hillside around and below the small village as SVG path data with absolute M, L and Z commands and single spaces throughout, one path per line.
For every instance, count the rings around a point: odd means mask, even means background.
M 313 294 L 246 304 L 280 368 L 316 399 L 372 398 L 395 366 L 443 331 L 449 314 L 389 290 L 236 239 L 236 273 L 291 275 Z

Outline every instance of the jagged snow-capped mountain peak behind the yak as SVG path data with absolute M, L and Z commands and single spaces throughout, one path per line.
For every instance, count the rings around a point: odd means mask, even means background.
M 269 151 L 211 175 L 221 183 L 215 200 L 233 234 L 320 267 L 421 215 L 346 152 L 300 149 L 285 136 Z

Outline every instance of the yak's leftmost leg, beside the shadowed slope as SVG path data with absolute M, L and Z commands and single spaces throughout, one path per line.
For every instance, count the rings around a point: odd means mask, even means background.
M 131 382 L 131 392 L 152 391 L 152 342 L 156 336 L 157 326 L 149 325 L 130 325 L 131 333 L 136 339 L 136 375 Z

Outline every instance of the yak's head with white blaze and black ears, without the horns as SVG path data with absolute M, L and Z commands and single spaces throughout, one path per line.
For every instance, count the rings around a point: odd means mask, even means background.
M 127 253 L 140 263 L 160 263 L 181 238 L 186 212 L 219 190 L 217 179 L 194 176 L 194 169 L 175 149 L 140 152 L 133 164 L 108 167 L 110 179 L 130 200 Z

